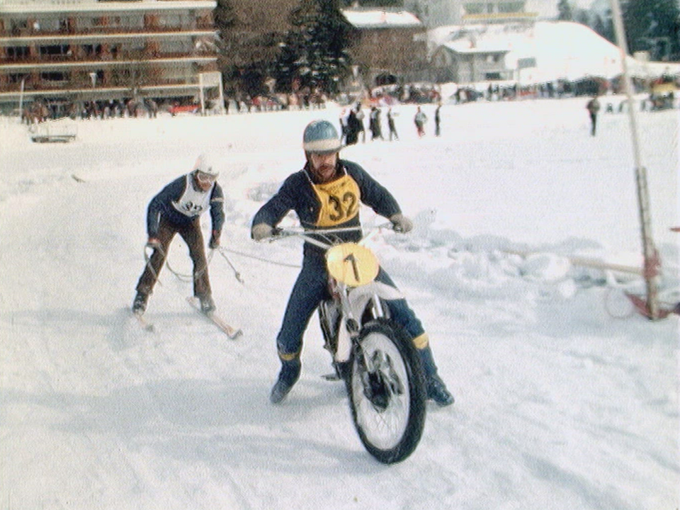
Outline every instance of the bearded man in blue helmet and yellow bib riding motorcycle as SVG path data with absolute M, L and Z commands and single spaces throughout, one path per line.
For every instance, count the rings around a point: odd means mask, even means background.
M 302 137 L 307 161 L 300 171 L 285 179 L 283 185 L 253 218 L 251 237 L 261 241 L 271 237 L 275 227 L 290 210 L 308 230 L 360 227 L 358 202 L 390 219 L 397 232 L 409 232 L 413 224 L 402 215 L 397 200 L 361 166 L 339 159 L 341 143 L 334 125 L 315 120 Z M 342 197 L 342 198 L 339 198 Z M 360 231 L 337 232 L 343 242 L 361 239 Z M 300 377 L 302 335 L 319 303 L 329 297 L 325 251 L 305 242 L 302 270 L 290 293 L 281 329 L 276 337 L 281 370 L 271 390 L 271 402 L 281 402 Z M 376 280 L 395 284 L 380 268 Z M 437 375 L 429 340 L 421 322 L 406 300 L 388 302 L 392 319 L 404 327 L 423 361 L 427 395 L 437 404 L 453 403 L 453 396 Z

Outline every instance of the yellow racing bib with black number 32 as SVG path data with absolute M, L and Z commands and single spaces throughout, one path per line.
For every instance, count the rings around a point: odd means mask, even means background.
M 323 184 L 313 184 L 321 208 L 317 227 L 336 227 L 351 220 L 359 212 L 361 192 L 354 179 L 348 175 Z

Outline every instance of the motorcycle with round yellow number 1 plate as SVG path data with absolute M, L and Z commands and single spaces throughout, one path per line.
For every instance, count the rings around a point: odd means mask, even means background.
M 380 265 L 362 244 L 366 238 L 331 240 L 340 230 L 278 229 L 273 239 L 300 237 L 326 251 L 331 298 L 319 305 L 319 322 L 324 348 L 333 358 L 331 378 L 345 382 L 353 424 L 366 450 L 380 463 L 398 463 L 413 453 L 425 424 L 421 360 L 386 305 L 404 296 L 375 281 Z

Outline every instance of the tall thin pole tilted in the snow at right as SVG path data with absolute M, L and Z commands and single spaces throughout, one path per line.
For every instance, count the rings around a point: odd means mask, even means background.
M 638 144 L 638 120 L 633 105 L 633 87 L 630 84 L 628 74 L 628 45 L 625 42 L 625 29 L 623 28 L 623 16 L 618 0 L 611 0 L 611 13 L 614 22 L 618 48 L 621 52 L 621 67 L 623 68 L 623 86 L 628 96 L 628 117 L 630 118 L 630 131 L 633 137 L 633 157 L 635 158 L 635 183 L 638 187 L 638 207 L 640 213 L 640 229 L 642 234 L 642 254 L 645 256 L 645 268 L 651 269 L 657 260 L 657 250 L 652 239 L 652 215 L 650 213 L 650 197 L 647 190 L 647 170 L 642 166 L 640 158 L 640 146 Z M 657 277 L 653 271 L 645 271 L 645 283 L 647 284 L 647 310 L 651 319 L 659 317 L 657 303 Z

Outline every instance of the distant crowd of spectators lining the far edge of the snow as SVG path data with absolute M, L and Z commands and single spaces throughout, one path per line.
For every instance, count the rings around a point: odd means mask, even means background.
M 665 89 L 659 94 L 658 86 Z M 634 79 L 635 93 L 649 92 L 648 100 L 642 101 L 641 109 L 654 110 L 672 108 L 674 106 L 674 91 L 679 86 L 678 77 L 659 77 L 654 80 Z M 655 89 L 657 87 L 657 89 Z M 446 94 L 443 93 L 446 89 Z M 320 91 L 302 89 L 291 94 L 263 94 L 248 96 L 244 94 L 229 94 L 224 103 L 216 98 L 207 98 L 203 108 L 198 98 L 183 98 L 181 100 L 160 100 L 157 98 L 124 98 L 108 101 L 76 101 L 72 103 L 47 102 L 36 99 L 21 111 L 22 121 L 25 123 L 40 123 L 44 120 L 70 117 L 72 119 L 105 119 L 105 118 L 156 118 L 160 111 L 177 115 L 179 113 L 254 113 L 280 110 L 312 110 L 325 108 L 329 100 L 341 106 L 353 105 L 361 101 L 366 106 L 390 107 L 397 104 L 412 103 L 416 105 L 426 103 L 463 104 L 472 101 L 514 101 L 537 98 L 565 98 L 574 96 L 613 95 L 621 94 L 623 89 L 621 80 L 605 80 L 586 77 L 577 81 L 550 81 L 542 84 L 519 85 L 517 83 L 489 82 L 475 86 L 442 86 L 431 83 L 389 84 L 377 86 L 373 89 L 362 89 L 352 94 L 339 94 L 329 98 Z M 619 108 L 621 110 L 621 108 Z M 611 111 L 611 108 L 608 108 Z

